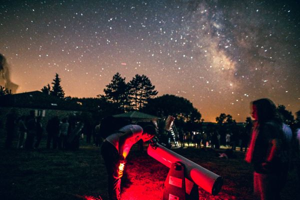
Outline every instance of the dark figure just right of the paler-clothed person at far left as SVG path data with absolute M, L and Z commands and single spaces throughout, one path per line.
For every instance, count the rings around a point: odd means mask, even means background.
M 36 120 L 34 115 L 34 110 L 30 110 L 29 115 L 26 118 L 25 122 L 27 128 L 27 137 L 25 141 L 25 149 L 32 149 L 34 137 L 36 134 Z

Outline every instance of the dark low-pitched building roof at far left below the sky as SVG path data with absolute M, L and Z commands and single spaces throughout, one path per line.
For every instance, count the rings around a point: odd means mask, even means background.
M 0 96 L 1 106 L 77 110 L 80 105 L 41 91 L 29 91 Z

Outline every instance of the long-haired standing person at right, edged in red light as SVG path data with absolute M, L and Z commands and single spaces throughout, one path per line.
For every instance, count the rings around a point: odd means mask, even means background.
M 254 168 L 254 194 L 261 200 L 280 199 L 280 153 L 284 148 L 282 123 L 271 100 L 254 100 L 251 106 L 255 122 L 245 160 Z

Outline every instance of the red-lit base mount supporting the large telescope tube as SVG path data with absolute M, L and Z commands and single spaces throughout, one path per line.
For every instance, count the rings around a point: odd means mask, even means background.
M 164 182 L 162 200 L 198 200 L 198 185 L 184 176 L 185 166 L 176 161 L 171 164 Z

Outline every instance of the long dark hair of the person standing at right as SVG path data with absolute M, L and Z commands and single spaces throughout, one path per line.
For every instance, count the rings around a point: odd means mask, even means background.
M 260 98 L 252 101 L 252 105 L 256 106 L 258 123 L 274 120 L 281 122 L 280 117 L 276 111 L 276 105 L 268 98 Z

